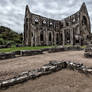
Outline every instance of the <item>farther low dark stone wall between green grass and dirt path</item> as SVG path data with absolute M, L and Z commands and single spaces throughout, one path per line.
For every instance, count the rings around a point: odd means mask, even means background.
M 80 47 L 58 47 L 58 48 L 45 48 L 41 50 L 23 50 L 23 51 L 15 51 L 11 53 L 0 53 L 0 60 L 1 59 L 10 59 L 15 58 L 18 56 L 32 56 L 32 55 L 39 55 L 43 54 L 44 51 L 48 53 L 55 53 L 55 52 L 62 52 L 62 51 L 70 51 L 70 50 L 83 50 Z

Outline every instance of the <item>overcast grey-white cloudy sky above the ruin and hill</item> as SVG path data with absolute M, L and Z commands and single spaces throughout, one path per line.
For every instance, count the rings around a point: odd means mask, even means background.
M 77 12 L 85 2 L 92 21 L 92 0 L 0 0 L 0 25 L 23 32 L 25 6 L 30 11 L 54 19 L 63 19 Z M 92 24 L 91 24 L 92 25 Z

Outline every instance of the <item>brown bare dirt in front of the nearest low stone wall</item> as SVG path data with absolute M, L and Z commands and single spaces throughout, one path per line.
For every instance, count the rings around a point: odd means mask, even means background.
M 0 92 L 92 92 L 92 77 L 62 70 Z

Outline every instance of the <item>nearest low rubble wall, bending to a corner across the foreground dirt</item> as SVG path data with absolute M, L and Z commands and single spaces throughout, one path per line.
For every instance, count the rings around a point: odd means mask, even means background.
M 28 80 L 34 80 L 40 76 L 51 74 L 62 69 L 70 69 L 73 71 L 77 70 L 78 72 L 84 73 L 86 75 L 92 74 L 91 68 L 87 68 L 86 66 L 80 63 L 74 63 L 70 61 L 50 61 L 48 64 L 43 65 L 39 69 L 22 72 L 14 78 L 0 82 L 0 89 L 6 89 L 10 86 L 23 83 Z

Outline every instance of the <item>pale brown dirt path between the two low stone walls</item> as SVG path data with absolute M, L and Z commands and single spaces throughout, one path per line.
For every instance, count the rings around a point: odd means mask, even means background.
M 47 64 L 50 60 L 71 60 L 92 66 L 92 59 L 83 56 L 84 51 L 67 51 L 59 53 L 45 53 L 36 56 L 18 57 L 0 61 L 0 80 L 13 77 L 20 72 L 28 71 Z

